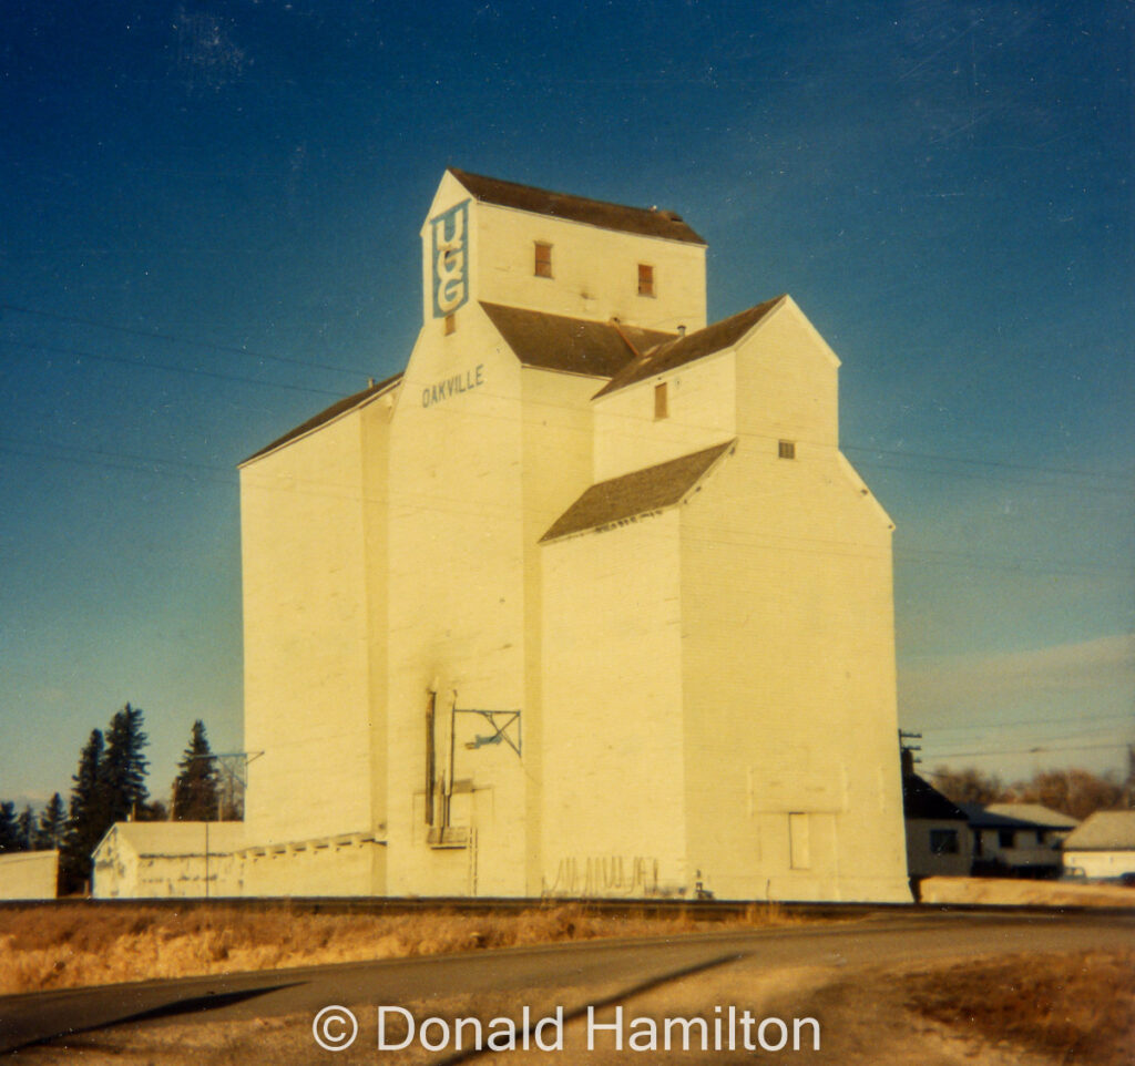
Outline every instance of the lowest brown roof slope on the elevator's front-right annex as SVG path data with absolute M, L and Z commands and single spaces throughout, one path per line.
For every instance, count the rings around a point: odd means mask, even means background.
M 673 507 L 682 502 L 717 460 L 731 452 L 735 444 L 735 440 L 726 440 L 657 467 L 647 467 L 645 470 L 592 485 L 556 519 L 540 542 L 555 540 L 588 529 L 604 529 L 639 515 Z

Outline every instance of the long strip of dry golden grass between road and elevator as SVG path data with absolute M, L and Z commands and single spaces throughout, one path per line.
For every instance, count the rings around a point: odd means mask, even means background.
M 776 904 L 733 922 L 614 917 L 586 905 L 537 906 L 518 914 L 310 914 L 289 907 L 187 906 L 182 910 L 42 907 L 0 912 L 0 994 L 236 973 L 322 963 L 443 955 L 592 940 L 658 937 L 800 921 Z

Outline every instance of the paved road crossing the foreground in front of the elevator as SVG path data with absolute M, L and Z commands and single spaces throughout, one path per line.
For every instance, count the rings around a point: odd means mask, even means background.
M 550 991 L 607 1001 L 737 959 L 782 967 L 863 967 L 950 956 L 1135 948 L 1135 913 L 886 913 L 854 924 L 785 926 L 669 940 L 599 941 L 460 956 L 187 977 L 0 998 L 0 1052 L 109 1025 L 208 1012 L 266 1018 L 329 1004 L 404 1004 L 472 989 L 523 1004 Z M 612 987 L 616 988 L 614 996 Z

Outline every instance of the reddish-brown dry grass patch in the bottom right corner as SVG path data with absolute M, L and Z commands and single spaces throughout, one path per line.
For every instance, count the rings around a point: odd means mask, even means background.
M 908 979 L 922 1014 L 1061 1064 L 1127 1066 L 1135 1035 L 1135 951 L 964 963 Z

